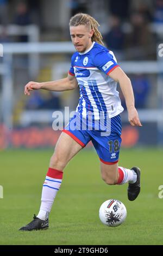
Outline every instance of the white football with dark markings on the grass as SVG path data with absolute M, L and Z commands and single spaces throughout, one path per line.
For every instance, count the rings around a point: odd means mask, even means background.
M 109 227 L 121 225 L 127 216 L 125 205 L 116 199 L 105 201 L 99 208 L 99 218 L 103 224 Z

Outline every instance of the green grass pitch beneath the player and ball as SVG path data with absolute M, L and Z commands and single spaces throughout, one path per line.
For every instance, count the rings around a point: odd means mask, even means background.
M 83 149 L 68 164 L 53 204 L 49 229 L 18 231 L 32 221 L 40 207 L 42 184 L 53 150 L 7 150 L 0 152 L 1 245 L 162 245 L 163 185 L 161 149 L 121 150 L 120 166 L 141 168 L 141 193 L 130 202 L 127 184 L 109 186 L 101 179 L 95 151 Z M 98 217 L 101 204 L 121 200 L 126 221 L 106 227 Z

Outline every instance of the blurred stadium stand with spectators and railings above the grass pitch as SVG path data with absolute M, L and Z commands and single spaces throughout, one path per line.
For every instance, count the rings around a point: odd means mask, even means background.
M 52 113 L 76 108 L 78 89 L 30 97 L 23 90 L 31 80 L 67 75 L 74 52 L 68 22 L 78 12 L 99 22 L 105 45 L 133 84 L 143 127 L 131 127 L 124 111 L 123 147 L 163 145 L 163 0 L 1 0 L 0 10 L 0 149 L 52 148 L 60 133 L 52 130 Z

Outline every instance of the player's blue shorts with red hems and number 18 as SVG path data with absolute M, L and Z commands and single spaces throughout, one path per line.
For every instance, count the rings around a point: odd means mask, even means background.
M 106 122 L 105 119 L 89 121 L 77 112 L 63 130 L 82 147 L 92 141 L 99 159 L 105 164 L 118 162 L 122 141 L 121 131 L 120 114 Z

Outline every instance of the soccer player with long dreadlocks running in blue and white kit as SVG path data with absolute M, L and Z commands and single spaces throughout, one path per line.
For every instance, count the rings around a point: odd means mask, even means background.
M 76 112 L 62 131 L 51 157 L 42 188 L 39 214 L 34 215 L 34 220 L 20 230 L 48 228 L 49 212 L 60 188 L 63 170 L 72 157 L 90 141 L 99 156 L 101 175 L 106 184 L 121 185 L 128 182 L 128 199 L 131 201 L 140 192 L 140 169 L 118 167 L 121 146 L 120 113 L 123 107 L 116 90 L 117 82 L 120 83 L 126 100 L 130 124 L 142 124 L 134 106 L 130 79 L 118 66 L 114 53 L 103 46 L 98 26 L 98 22 L 88 14 L 74 15 L 70 20 L 70 35 L 77 52 L 72 56 L 67 77 L 51 82 L 29 82 L 24 88 L 24 94 L 30 95 L 32 90 L 62 92 L 79 86 L 80 98 Z M 92 125 L 89 125 L 90 114 Z M 110 122 L 107 123 L 108 120 Z

